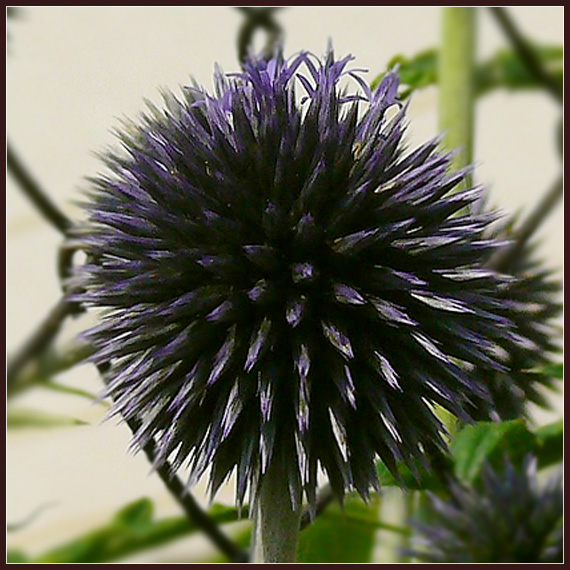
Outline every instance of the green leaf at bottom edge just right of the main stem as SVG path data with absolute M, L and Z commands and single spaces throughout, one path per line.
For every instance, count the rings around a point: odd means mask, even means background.
M 365 505 L 350 496 L 344 511 L 333 503 L 299 537 L 297 562 L 364 563 L 372 561 L 378 529 L 378 500 Z

